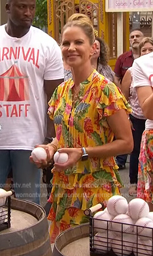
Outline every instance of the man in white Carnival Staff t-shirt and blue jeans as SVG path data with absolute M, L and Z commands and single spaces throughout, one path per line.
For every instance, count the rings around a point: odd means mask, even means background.
M 29 157 L 52 137 L 47 101 L 63 82 L 56 41 L 31 26 L 36 0 L 8 0 L 0 26 L 0 185 L 13 170 L 16 197 L 39 203 L 40 170 Z

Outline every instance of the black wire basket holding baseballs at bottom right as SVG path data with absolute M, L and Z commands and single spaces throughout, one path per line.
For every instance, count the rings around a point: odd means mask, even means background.
M 91 256 L 153 255 L 153 229 L 151 227 L 144 227 L 145 233 L 143 233 L 142 226 L 97 219 L 93 217 L 92 211 L 86 215 L 90 215 Z M 117 230 L 112 229 L 113 223 L 117 225 Z M 129 231 L 125 232 L 125 230 Z

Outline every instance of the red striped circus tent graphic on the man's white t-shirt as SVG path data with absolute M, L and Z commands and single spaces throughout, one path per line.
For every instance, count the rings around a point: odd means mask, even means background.
M 14 64 L 0 75 L 0 101 L 28 101 L 28 77 Z

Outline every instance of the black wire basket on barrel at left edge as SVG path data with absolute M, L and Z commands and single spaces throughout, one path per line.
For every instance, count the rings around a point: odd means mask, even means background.
M 0 207 L 0 231 L 11 226 L 11 197 L 7 197 L 5 205 Z

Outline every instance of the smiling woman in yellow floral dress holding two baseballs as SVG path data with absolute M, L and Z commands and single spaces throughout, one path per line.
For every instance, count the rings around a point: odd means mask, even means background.
M 36 163 L 47 165 L 56 150 L 69 155 L 66 163 L 55 163 L 52 170 L 51 243 L 61 231 L 88 222 L 86 208 L 99 202 L 106 206 L 112 195 L 119 194 L 122 185 L 113 156 L 133 150 L 129 105 L 90 62 L 96 49 L 92 23 L 83 14 L 71 19 L 63 29 L 61 50 L 73 79 L 59 85 L 49 101 L 56 138 L 41 145 L 47 161 Z M 85 161 L 81 161 L 82 148 L 88 155 Z

